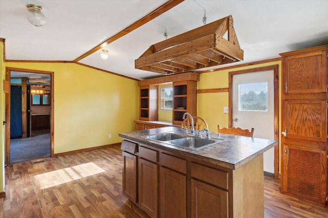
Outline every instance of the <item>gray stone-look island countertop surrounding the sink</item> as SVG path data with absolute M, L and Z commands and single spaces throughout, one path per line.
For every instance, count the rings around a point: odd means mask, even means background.
M 167 143 L 142 138 L 142 136 L 171 131 L 178 132 L 180 134 L 185 132 L 183 129 L 177 127 L 163 127 L 128 133 L 119 133 L 118 135 L 124 139 L 147 144 L 155 148 L 167 150 L 179 155 L 192 157 L 230 169 L 236 169 L 242 166 L 278 144 L 275 140 L 210 132 L 209 135 L 211 138 L 224 139 L 226 141 L 199 150 L 189 150 L 171 146 Z M 195 132 L 195 135 L 197 136 L 197 131 Z M 204 133 L 202 133 L 202 135 L 204 135 Z

